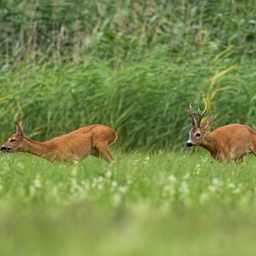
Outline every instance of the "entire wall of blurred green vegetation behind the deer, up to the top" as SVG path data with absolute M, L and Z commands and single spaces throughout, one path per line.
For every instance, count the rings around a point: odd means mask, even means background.
M 256 128 L 254 0 L 2 0 L 0 30 L 3 141 L 102 123 L 124 149 L 180 148 L 204 101 L 212 128 Z

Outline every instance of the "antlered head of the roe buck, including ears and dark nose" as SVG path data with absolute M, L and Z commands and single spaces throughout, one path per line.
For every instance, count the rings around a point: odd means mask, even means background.
M 207 119 L 206 122 L 201 124 L 201 120 L 203 119 L 204 115 L 207 113 L 207 103 L 206 103 L 206 107 L 205 107 L 204 111 L 201 112 L 200 109 L 198 108 L 197 113 L 199 115 L 198 121 L 195 120 L 194 111 L 193 111 L 192 105 L 190 103 L 189 116 L 191 118 L 191 130 L 189 131 L 189 140 L 186 143 L 186 146 L 189 148 L 192 146 L 200 146 L 204 143 L 206 132 L 207 132 L 208 128 L 210 127 L 210 125 L 212 123 L 212 119 L 213 119 L 213 117 L 211 115 L 209 117 L 209 119 Z

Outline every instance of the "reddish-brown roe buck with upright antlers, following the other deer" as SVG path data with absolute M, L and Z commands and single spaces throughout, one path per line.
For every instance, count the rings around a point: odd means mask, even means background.
M 224 125 L 214 131 L 207 131 L 212 122 L 212 115 L 201 124 L 206 113 L 207 104 L 202 113 L 198 109 L 199 119 L 196 122 L 190 103 L 189 116 L 192 128 L 189 131 L 187 147 L 201 146 L 206 148 L 213 159 L 220 161 L 235 160 L 237 163 L 242 163 L 244 155 L 254 154 L 256 156 L 256 131 L 247 125 L 239 124 Z

